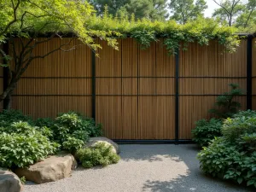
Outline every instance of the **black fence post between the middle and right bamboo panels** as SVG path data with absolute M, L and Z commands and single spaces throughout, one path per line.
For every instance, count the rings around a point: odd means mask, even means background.
M 179 124 L 178 124 L 178 120 L 179 120 L 179 104 L 178 104 L 178 75 L 179 75 L 179 67 L 178 67 L 178 63 L 179 63 L 179 50 L 176 50 L 176 54 L 175 54 L 175 144 L 179 143 Z

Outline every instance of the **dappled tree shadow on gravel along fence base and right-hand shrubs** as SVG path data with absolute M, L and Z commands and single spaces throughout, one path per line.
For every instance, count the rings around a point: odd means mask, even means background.
M 180 145 L 121 145 L 125 153 L 121 153 L 121 158 L 125 162 L 142 161 L 149 162 L 162 161 L 168 158 L 176 162 L 183 161 L 188 166 L 186 175 L 179 175 L 170 181 L 148 180 L 143 184 L 143 191 L 152 192 L 225 192 L 225 191 L 254 191 L 255 189 L 247 189 L 245 186 L 236 183 L 229 183 L 218 178 L 207 177 L 200 170 L 199 161 L 196 154 L 201 148 L 194 144 Z M 149 148 L 148 148 L 149 147 Z M 172 174 L 172 172 L 170 172 Z

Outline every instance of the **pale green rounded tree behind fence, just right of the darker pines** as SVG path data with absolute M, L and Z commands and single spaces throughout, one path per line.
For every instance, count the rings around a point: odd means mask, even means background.
M 205 0 L 171 0 L 169 9 L 172 16 L 170 19 L 176 20 L 178 23 L 185 24 L 189 20 L 195 20 L 198 16 L 203 16 L 203 12 L 207 9 Z

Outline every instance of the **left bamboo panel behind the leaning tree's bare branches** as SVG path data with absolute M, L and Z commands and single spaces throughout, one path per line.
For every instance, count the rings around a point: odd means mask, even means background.
M 38 40 L 42 40 L 39 38 Z M 54 38 L 38 46 L 34 55 L 43 55 L 70 38 Z M 74 40 L 67 47 L 81 44 Z M 85 45 L 70 52 L 57 51 L 37 59 L 22 75 L 13 96 L 13 108 L 34 118 L 51 117 L 70 110 L 91 115 L 90 49 Z

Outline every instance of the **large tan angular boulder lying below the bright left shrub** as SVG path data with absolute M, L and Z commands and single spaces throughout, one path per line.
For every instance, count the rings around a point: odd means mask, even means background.
M 25 176 L 28 181 L 40 184 L 69 177 L 76 166 L 73 155 L 57 154 L 27 168 L 18 168 L 15 173 L 19 177 Z

